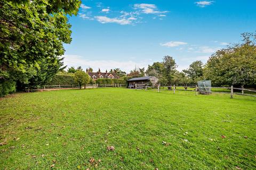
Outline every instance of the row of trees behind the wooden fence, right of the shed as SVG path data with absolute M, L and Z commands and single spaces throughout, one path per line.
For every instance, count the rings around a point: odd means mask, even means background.
M 213 86 L 256 86 L 256 34 L 243 33 L 243 43 L 223 48 L 211 55 L 204 65 L 201 61 L 191 63 L 186 70 L 179 72 L 171 56 L 164 56 L 162 62 L 149 65 L 145 71 L 135 69 L 131 77 L 153 75 L 159 83 L 188 86 L 198 80 L 211 80 Z

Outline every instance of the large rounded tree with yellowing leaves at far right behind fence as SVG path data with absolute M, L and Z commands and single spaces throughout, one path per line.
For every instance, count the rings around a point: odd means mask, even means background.
M 243 33 L 243 43 L 220 49 L 207 61 L 205 77 L 213 84 L 252 85 L 256 84 L 256 34 Z

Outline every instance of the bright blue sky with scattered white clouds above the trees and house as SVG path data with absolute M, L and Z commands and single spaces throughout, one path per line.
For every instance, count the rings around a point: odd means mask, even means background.
M 256 1 L 82 1 L 65 64 L 126 72 L 173 56 L 178 70 L 256 30 Z

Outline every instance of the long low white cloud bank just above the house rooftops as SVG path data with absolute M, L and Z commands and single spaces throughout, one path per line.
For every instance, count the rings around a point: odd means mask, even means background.
M 138 67 L 148 67 L 148 64 L 152 64 L 153 62 L 150 60 L 145 61 L 115 61 L 115 60 L 87 60 L 82 56 L 79 55 L 63 55 L 64 57 L 64 64 L 68 67 L 74 66 L 82 66 L 85 70 L 88 67 L 92 67 L 94 71 L 100 70 L 109 70 L 114 68 L 120 68 L 125 72 L 129 72 L 134 69 L 135 65 Z

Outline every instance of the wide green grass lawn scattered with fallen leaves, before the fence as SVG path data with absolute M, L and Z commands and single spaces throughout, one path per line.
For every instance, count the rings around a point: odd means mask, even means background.
M 248 96 L 17 94 L 0 100 L 0 132 L 0 169 L 256 168 L 256 98 Z

